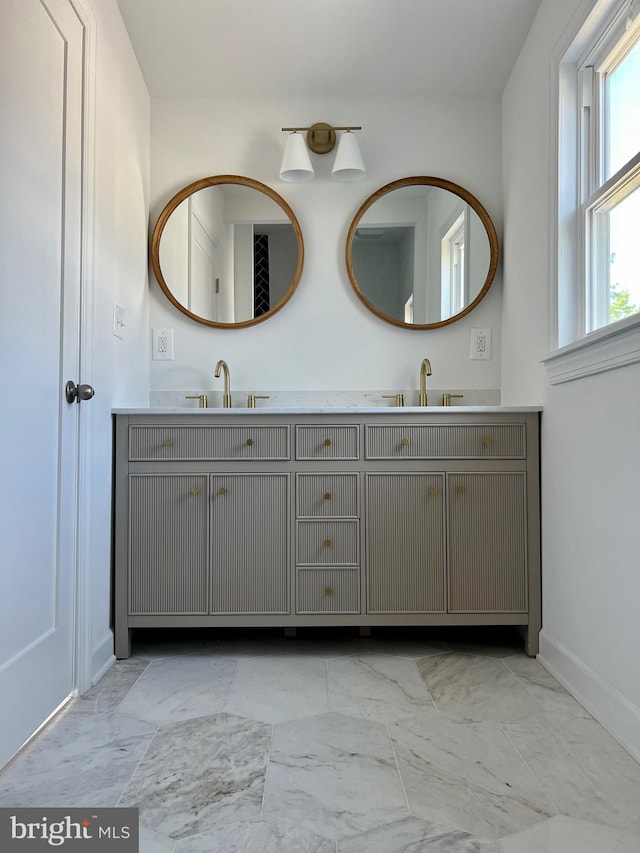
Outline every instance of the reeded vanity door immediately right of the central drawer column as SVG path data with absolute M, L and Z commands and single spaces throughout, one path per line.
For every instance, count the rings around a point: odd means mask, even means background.
M 367 474 L 366 483 L 368 612 L 444 612 L 444 474 Z

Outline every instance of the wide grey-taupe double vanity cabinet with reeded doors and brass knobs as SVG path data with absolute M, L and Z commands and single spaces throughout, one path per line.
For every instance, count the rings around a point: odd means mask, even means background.
M 132 628 L 540 631 L 539 411 L 117 410 L 116 656 Z

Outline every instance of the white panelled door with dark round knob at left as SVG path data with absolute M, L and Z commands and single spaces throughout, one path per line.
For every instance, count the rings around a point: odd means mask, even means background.
M 0 42 L 2 765 L 74 688 L 83 27 L 2 0 Z

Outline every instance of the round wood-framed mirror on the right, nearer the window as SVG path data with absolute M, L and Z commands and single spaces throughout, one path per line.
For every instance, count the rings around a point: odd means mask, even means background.
M 498 266 L 498 238 L 467 190 L 443 178 L 402 178 L 361 205 L 346 261 L 370 311 L 396 326 L 435 329 L 484 297 Z

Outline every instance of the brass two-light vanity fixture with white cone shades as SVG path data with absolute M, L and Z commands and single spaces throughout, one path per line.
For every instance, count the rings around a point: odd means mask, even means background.
M 283 127 L 282 130 L 289 131 L 289 136 L 280 166 L 281 180 L 310 181 L 314 172 L 309 151 L 313 151 L 314 154 L 328 154 L 329 151 L 333 151 L 336 144 L 336 131 L 341 131 L 341 134 L 331 170 L 333 180 L 359 181 L 367 174 L 358 140 L 352 132 L 362 130 L 361 127 L 332 127 L 325 122 L 317 122 L 311 127 Z M 301 131 L 307 132 L 306 146 Z

